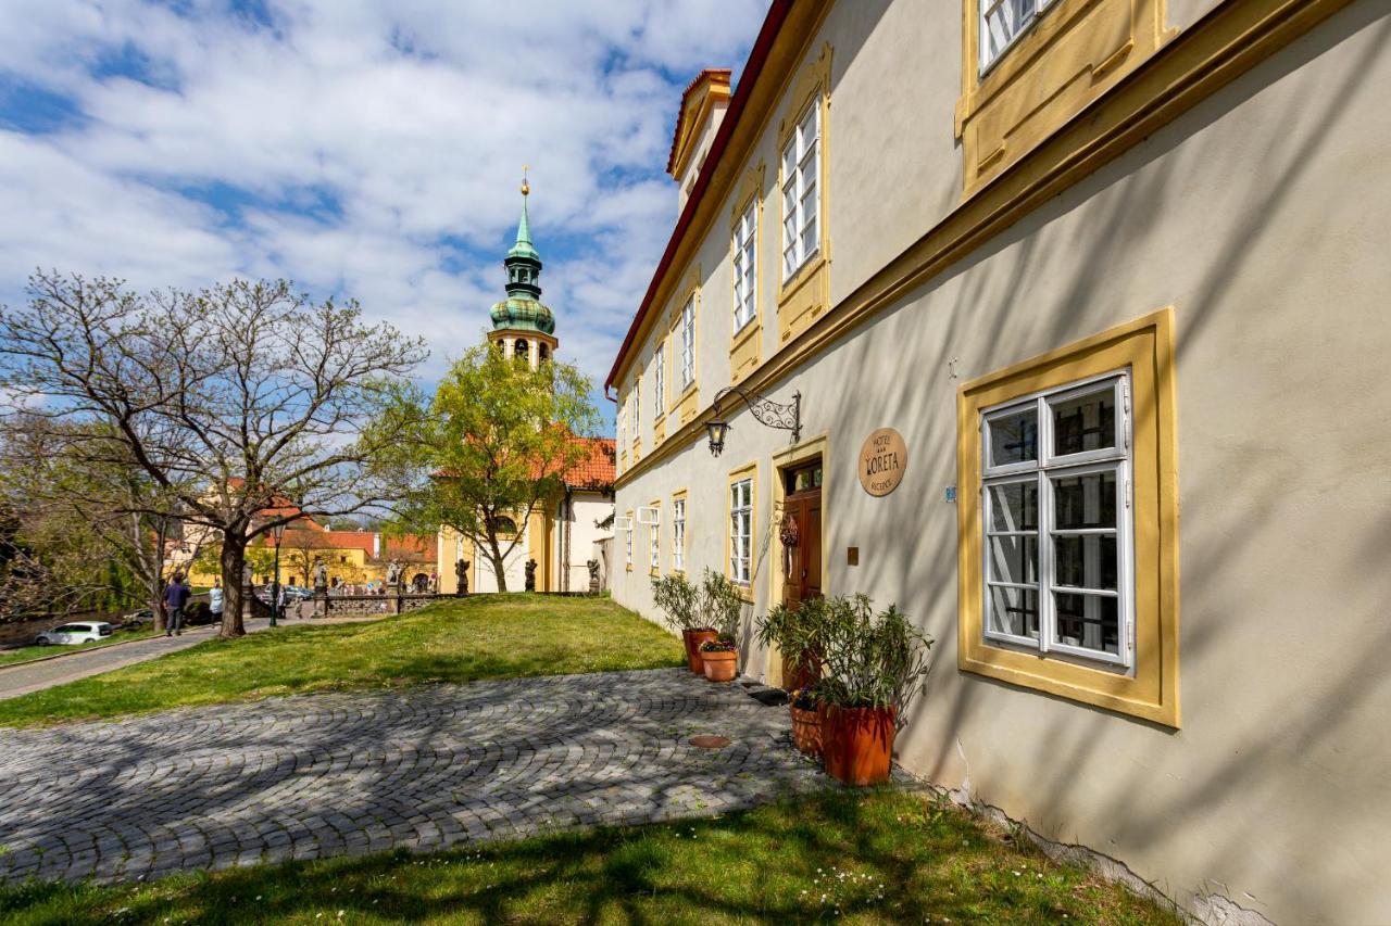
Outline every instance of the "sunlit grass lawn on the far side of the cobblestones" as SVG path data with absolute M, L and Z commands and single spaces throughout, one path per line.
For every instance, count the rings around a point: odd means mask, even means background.
M 683 665 L 680 641 L 606 598 L 477 595 L 367 624 L 210 640 L 150 662 L 0 701 L 0 724 L 427 681 Z

